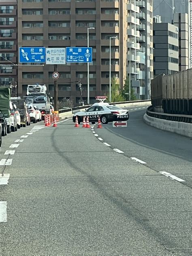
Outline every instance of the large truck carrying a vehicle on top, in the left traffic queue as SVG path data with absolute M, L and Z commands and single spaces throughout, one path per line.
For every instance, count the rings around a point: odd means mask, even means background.
M 41 111 L 42 117 L 46 114 L 50 114 L 52 97 L 47 93 L 46 85 L 28 85 L 27 95 L 23 98 L 26 104 L 37 106 Z

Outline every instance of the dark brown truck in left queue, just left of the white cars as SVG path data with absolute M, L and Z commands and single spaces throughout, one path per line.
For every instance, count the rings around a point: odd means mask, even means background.
M 11 102 L 13 102 L 13 104 L 15 104 L 19 109 L 21 127 L 30 125 L 30 117 L 25 100 L 21 99 L 21 97 L 11 97 Z

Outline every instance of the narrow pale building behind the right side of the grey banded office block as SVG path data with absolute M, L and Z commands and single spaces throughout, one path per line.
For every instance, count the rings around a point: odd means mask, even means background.
M 189 66 L 188 14 L 175 13 L 173 23 L 179 28 L 179 71 L 183 71 Z

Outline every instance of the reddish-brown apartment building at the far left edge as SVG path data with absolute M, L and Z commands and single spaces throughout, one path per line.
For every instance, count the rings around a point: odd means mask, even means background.
M 0 86 L 17 83 L 17 0 L 0 0 Z

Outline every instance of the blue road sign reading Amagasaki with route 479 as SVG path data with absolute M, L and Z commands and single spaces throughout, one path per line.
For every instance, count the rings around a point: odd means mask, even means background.
M 42 63 L 45 61 L 45 47 L 19 47 L 20 63 Z

